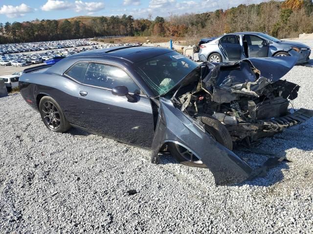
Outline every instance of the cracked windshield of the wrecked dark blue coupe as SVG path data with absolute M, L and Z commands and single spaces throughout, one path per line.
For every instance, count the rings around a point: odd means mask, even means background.
M 136 65 L 141 69 L 140 76 L 156 96 L 167 93 L 199 66 L 175 51 L 142 60 Z

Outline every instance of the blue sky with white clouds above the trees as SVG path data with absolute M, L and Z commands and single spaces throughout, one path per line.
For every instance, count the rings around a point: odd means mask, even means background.
M 58 20 L 75 16 L 168 17 L 227 9 L 264 0 L 0 0 L 0 22 Z

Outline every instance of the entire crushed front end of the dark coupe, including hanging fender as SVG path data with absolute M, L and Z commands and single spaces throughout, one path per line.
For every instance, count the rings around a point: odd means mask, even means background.
M 181 86 L 171 99 L 159 98 L 153 159 L 163 144 L 179 144 L 201 159 L 217 185 L 252 179 L 283 161 L 285 158 L 269 158 L 262 170 L 253 171 L 240 156 L 214 140 L 196 116 L 219 120 L 235 145 L 250 145 L 308 120 L 313 111 L 289 109 L 300 87 L 280 79 L 295 63 L 292 57 L 244 59 L 232 64 L 203 62 L 200 80 Z

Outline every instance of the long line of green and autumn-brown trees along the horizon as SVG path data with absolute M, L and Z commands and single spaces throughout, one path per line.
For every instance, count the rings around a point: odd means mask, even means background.
M 265 32 L 278 38 L 313 33 L 312 0 L 268 1 L 240 4 L 202 14 L 157 16 L 79 17 L 0 23 L 0 43 L 80 39 L 103 36 L 213 37 L 241 31 Z

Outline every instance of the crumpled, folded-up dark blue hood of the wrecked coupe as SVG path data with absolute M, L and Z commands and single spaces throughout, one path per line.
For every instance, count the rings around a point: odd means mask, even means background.
M 285 76 L 296 61 L 295 57 L 269 57 L 230 64 L 203 62 L 202 87 L 213 93 L 212 100 L 217 103 L 229 103 L 240 96 L 259 97 L 265 86 Z

